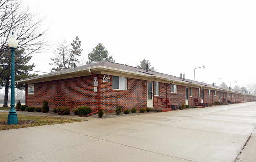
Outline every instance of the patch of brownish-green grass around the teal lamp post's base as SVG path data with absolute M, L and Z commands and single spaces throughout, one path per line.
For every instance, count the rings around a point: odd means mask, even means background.
M 60 117 L 33 116 L 17 114 L 18 124 L 7 125 L 8 113 L 0 112 L 0 131 L 6 129 L 17 129 L 25 127 L 35 127 L 40 125 L 53 125 L 62 123 L 81 122 L 83 120 L 65 119 Z

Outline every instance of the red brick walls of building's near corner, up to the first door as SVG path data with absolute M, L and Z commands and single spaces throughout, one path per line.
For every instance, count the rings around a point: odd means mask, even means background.
M 127 78 L 127 90 L 113 90 L 111 83 L 102 81 L 100 75 L 100 109 L 114 112 L 116 107 L 137 110 L 147 106 L 147 81 Z M 35 94 L 27 95 L 27 105 L 41 107 L 47 100 L 50 109 L 67 106 L 76 109 L 89 106 L 98 110 L 97 92 L 94 92 L 93 75 L 35 83 Z

